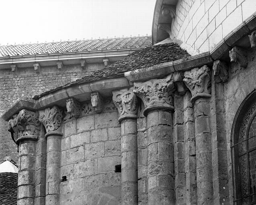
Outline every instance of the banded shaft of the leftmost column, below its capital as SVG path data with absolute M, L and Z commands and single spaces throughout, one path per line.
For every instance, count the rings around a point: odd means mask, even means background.
M 30 137 L 27 135 L 26 137 Z M 17 205 L 34 204 L 34 179 L 35 179 L 35 141 L 23 140 L 19 143 L 18 155 L 18 201 Z

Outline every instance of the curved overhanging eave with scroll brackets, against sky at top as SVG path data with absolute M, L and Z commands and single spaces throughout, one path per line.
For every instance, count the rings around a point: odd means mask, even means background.
M 152 44 L 168 38 L 171 34 L 171 23 L 175 18 L 178 0 L 156 0 L 152 22 Z M 166 10 L 167 12 L 164 12 Z M 168 13 L 169 11 L 169 13 Z

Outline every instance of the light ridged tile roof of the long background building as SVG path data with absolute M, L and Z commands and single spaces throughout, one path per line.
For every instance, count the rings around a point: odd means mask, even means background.
M 89 50 L 110 50 L 120 48 L 143 48 L 152 45 L 151 36 L 111 38 L 94 40 L 74 40 L 40 44 L 20 44 L 0 46 L 0 57 L 30 54 L 63 53 Z

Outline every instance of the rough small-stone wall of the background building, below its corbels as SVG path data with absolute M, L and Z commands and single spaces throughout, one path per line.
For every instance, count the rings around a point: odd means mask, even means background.
M 64 65 L 64 71 L 59 72 L 57 66 L 42 67 L 40 73 L 34 68 L 18 68 L 0 70 L 0 115 L 2 115 L 19 97 L 32 97 L 46 90 L 62 86 L 71 81 L 102 69 L 102 64 L 88 64 L 85 70 L 79 64 Z M 8 122 L 0 119 L 0 162 L 5 156 L 10 156 L 18 162 L 17 146 L 8 132 Z

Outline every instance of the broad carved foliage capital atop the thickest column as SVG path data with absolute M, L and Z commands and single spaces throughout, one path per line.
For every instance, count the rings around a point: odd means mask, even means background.
M 174 110 L 173 96 L 175 90 L 172 75 L 164 79 L 150 80 L 144 83 L 134 83 L 133 92 L 142 99 L 145 110 L 144 115 L 152 109 Z

